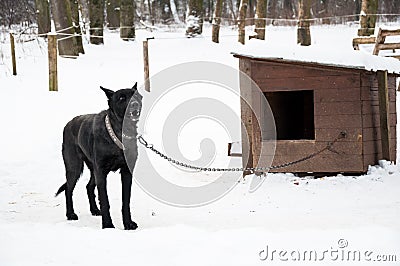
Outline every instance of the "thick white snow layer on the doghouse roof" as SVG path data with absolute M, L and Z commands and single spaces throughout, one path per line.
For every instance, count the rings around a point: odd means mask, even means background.
M 365 51 L 355 51 L 351 44 L 349 44 L 348 49 L 347 47 L 340 47 L 335 50 L 334 45 L 330 47 L 321 45 L 301 46 L 287 43 L 278 45 L 251 40 L 245 46 L 238 48 L 233 54 L 249 58 L 284 59 L 368 71 L 387 70 L 389 73 L 400 74 L 400 60 L 368 54 Z

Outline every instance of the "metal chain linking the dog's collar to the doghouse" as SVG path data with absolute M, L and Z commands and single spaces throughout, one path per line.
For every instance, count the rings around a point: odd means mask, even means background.
M 190 165 L 187 163 L 183 163 L 180 162 L 178 160 L 175 160 L 167 155 L 165 155 L 164 153 L 160 152 L 159 150 L 157 150 L 156 148 L 154 148 L 154 146 L 152 144 L 149 144 L 142 135 L 138 135 L 137 139 L 139 141 L 140 144 L 142 144 L 145 148 L 151 150 L 152 152 L 154 152 L 155 154 L 157 154 L 158 156 L 160 156 L 161 158 L 167 160 L 170 163 L 173 163 L 177 166 L 181 166 L 187 169 L 192 169 L 192 170 L 198 170 L 198 171 L 207 171 L 207 172 L 244 172 L 244 171 L 250 171 L 250 172 L 266 172 L 269 170 L 274 170 L 274 169 L 280 169 L 280 168 L 285 168 L 294 164 L 298 164 L 307 160 L 310 160 L 312 158 L 314 158 L 315 156 L 319 155 L 320 153 L 329 150 L 331 152 L 334 153 L 338 153 L 337 151 L 335 151 L 333 149 L 333 145 L 338 142 L 340 139 L 346 138 L 347 133 L 342 131 L 339 133 L 339 135 L 333 140 L 327 143 L 327 145 L 317 151 L 314 152 L 310 155 L 307 155 L 301 159 L 295 160 L 295 161 L 291 161 L 288 163 L 283 163 L 283 164 L 279 164 L 279 165 L 273 165 L 273 166 L 265 166 L 265 167 L 238 167 L 238 168 L 216 168 L 216 167 L 200 167 L 200 166 L 194 166 L 194 165 Z

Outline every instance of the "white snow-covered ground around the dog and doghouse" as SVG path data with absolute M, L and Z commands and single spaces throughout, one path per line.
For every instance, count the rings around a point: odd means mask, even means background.
M 338 56 L 352 50 L 357 32 L 355 26 L 311 30 L 312 48 Z M 151 75 L 198 60 L 238 68 L 231 55 L 240 49 L 235 31 L 224 29 L 220 44 L 210 41 L 208 27 L 198 38 L 183 32 L 139 30 L 135 42 L 107 32 L 105 45 L 85 43 L 85 55 L 59 58 L 59 92 L 47 91 L 45 42 L 17 44 L 18 75 L 12 76 L 7 36 L 0 36 L 0 265 L 308 265 L 310 254 L 318 254 L 317 262 L 311 259 L 318 265 L 400 265 L 400 169 L 389 162 L 363 176 L 268 174 L 254 193 L 248 191 L 256 177 L 247 177 L 222 199 L 198 208 L 165 205 L 134 183 L 136 231 L 122 230 L 116 173 L 108 177 L 116 229 L 100 229 L 101 218 L 89 212 L 85 170 L 74 193 L 80 219 L 66 221 L 64 195 L 54 197 L 65 182 L 63 127 L 76 115 L 107 108 L 100 85 L 143 83 L 142 40 L 155 37 L 149 42 Z M 267 39 L 274 49 L 298 49 L 295 28 L 270 27 Z M 221 147 L 220 157 L 226 143 Z M 141 166 L 139 157 L 136 169 L 145 174 Z M 168 165 L 162 170 L 177 182 L 213 178 L 177 173 Z M 360 254 L 360 261 L 347 261 L 348 252 Z M 383 262 L 389 259 L 396 261 Z

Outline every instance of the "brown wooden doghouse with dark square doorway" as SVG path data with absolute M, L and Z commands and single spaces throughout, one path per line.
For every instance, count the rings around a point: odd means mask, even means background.
M 277 141 L 272 165 L 304 158 L 346 133 L 331 150 L 272 172 L 364 173 L 378 160 L 396 161 L 400 69 L 388 73 L 360 66 L 234 56 L 239 58 L 240 70 L 260 87 L 274 115 Z M 252 101 L 259 99 L 253 96 Z M 257 162 L 263 166 L 268 158 L 259 156 L 262 125 L 254 125 L 248 105 L 242 103 L 241 109 L 250 141 L 246 151 L 250 159 L 244 166 L 254 167 Z

